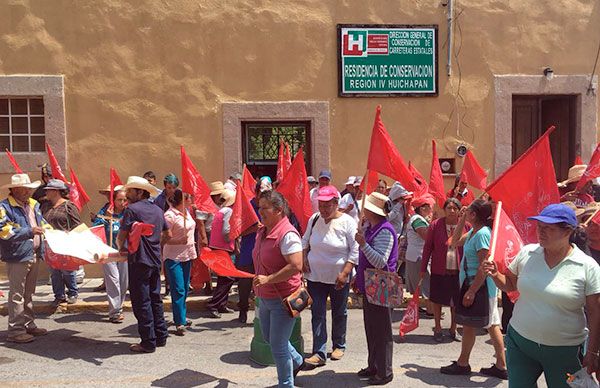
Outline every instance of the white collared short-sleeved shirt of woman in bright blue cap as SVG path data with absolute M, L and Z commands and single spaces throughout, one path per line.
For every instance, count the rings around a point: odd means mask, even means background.
M 600 293 L 600 266 L 573 245 L 550 269 L 539 244 L 524 246 L 508 269 L 520 293 L 510 325 L 523 337 L 547 346 L 581 345 L 588 333 L 586 296 Z

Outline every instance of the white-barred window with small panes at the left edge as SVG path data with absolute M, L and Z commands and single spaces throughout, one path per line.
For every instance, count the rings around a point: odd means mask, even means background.
M 43 97 L 0 97 L 0 150 L 44 152 Z

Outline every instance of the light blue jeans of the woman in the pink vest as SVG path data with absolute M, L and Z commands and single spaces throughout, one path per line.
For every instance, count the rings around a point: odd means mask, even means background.
M 290 343 L 296 319 L 290 317 L 279 298 L 260 298 L 258 318 L 263 338 L 271 346 L 271 353 L 275 359 L 279 387 L 293 387 L 294 368 L 302 365 L 304 361 Z

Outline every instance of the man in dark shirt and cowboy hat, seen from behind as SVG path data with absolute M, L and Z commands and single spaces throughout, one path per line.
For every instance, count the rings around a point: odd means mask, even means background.
M 127 254 L 129 294 L 133 314 L 138 320 L 141 342 L 129 349 L 138 353 L 152 353 L 157 346 L 167 343 L 167 324 L 160 295 L 161 241 L 170 237 L 161 208 L 149 201 L 157 194 L 156 187 L 142 177 L 130 176 L 124 185 L 129 206 L 123 212 L 117 244 L 123 249 L 134 223 L 154 226 L 152 234 L 141 236 L 136 252 Z

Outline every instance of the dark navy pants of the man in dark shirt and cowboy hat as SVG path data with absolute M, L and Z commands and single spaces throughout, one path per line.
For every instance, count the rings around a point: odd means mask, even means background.
M 131 307 L 138 321 L 141 345 L 156 348 L 168 337 L 167 324 L 160 295 L 160 267 L 129 263 L 129 294 Z

